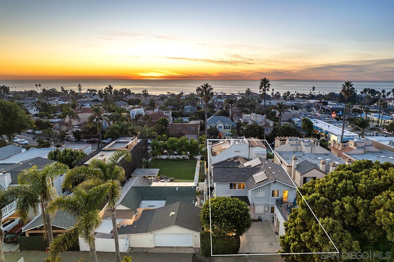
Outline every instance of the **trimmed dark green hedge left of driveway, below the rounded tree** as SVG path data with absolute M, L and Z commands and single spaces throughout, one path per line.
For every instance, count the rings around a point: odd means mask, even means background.
M 239 236 L 212 236 L 213 255 L 234 255 L 240 251 L 241 239 Z M 209 231 L 200 233 L 200 252 L 203 256 L 211 256 L 211 234 Z

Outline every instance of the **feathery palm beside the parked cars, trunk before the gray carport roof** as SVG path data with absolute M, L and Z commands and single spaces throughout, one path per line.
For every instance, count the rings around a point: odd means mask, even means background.
M 68 169 L 67 165 L 56 162 L 44 166 L 43 170 L 38 170 L 37 166 L 34 165 L 29 169 L 23 170 L 18 175 L 18 183 L 29 186 L 33 195 L 30 199 L 26 197 L 18 199 L 18 214 L 22 220 L 27 221 L 29 209 L 33 208 L 36 211 L 37 205 L 41 205 L 45 231 L 44 237 L 48 236 L 49 244 L 53 241 L 53 234 L 51 216 L 50 212 L 47 212 L 47 208 L 48 203 L 56 196 L 51 183 Z

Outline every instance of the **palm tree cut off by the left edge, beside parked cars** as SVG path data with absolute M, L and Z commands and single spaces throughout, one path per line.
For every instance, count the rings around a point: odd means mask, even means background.
M 29 186 L 26 185 L 15 185 L 9 186 L 8 188 L 0 190 L 0 218 L 3 217 L 3 208 L 7 205 L 11 204 L 13 201 L 17 199 L 27 199 L 28 201 L 32 201 L 34 199 L 33 192 Z M 18 205 L 17 205 L 18 208 Z M 24 220 L 27 221 L 27 220 Z M 2 248 L 4 232 L 2 229 L 2 220 L 0 220 L 0 261 L 4 260 L 4 252 Z

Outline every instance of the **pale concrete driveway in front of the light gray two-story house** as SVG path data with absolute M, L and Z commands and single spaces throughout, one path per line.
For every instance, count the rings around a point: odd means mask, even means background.
M 252 227 L 241 236 L 239 253 L 278 253 L 279 235 L 275 234 L 275 227 L 269 221 L 253 222 Z

